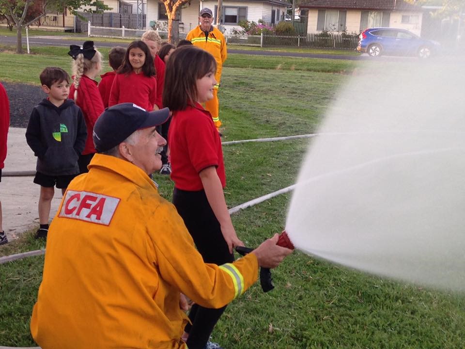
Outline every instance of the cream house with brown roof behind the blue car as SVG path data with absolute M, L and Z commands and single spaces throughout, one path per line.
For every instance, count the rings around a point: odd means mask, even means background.
M 309 10 L 308 32 L 392 27 L 421 34 L 421 7 L 403 0 L 304 0 L 300 8 Z

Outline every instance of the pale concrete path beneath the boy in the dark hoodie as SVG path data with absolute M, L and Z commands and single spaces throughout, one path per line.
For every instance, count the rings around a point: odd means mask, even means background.
M 31 148 L 26 143 L 25 134 L 25 128 L 10 127 L 5 167 L 2 169 L 0 183 L 2 225 L 8 240 L 16 239 L 19 234 L 39 225 L 37 203 L 40 186 L 32 182 L 34 177 L 31 175 L 27 177 L 6 176 L 8 172 L 35 172 L 37 158 L 34 157 Z M 55 216 L 61 198 L 62 191 L 55 188 L 50 220 Z

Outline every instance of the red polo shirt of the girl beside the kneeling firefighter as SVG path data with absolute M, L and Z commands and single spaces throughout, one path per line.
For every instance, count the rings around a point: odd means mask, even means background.
M 199 172 L 210 166 L 216 167 L 222 187 L 226 186 L 221 139 L 211 114 L 200 104 L 173 112 L 168 139 L 171 179 L 177 189 L 202 190 Z

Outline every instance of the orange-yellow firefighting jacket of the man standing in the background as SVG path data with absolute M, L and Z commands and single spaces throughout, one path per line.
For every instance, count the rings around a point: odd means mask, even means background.
M 200 25 L 198 25 L 187 34 L 186 40 L 189 40 L 192 45 L 210 52 L 212 56 L 215 57 L 215 61 L 217 61 L 217 73 L 215 74 L 215 79 L 219 85 L 221 71 L 223 70 L 223 63 L 228 57 L 226 40 L 223 33 L 216 27 L 213 27 L 213 31 L 209 32 L 208 38 L 205 39 L 205 32 L 202 32 Z

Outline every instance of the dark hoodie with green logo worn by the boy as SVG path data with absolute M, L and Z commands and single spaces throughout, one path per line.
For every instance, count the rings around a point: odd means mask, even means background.
M 43 99 L 32 109 L 26 141 L 37 157 L 37 172 L 78 174 L 78 158 L 86 143 L 84 117 L 72 99 L 56 107 Z

